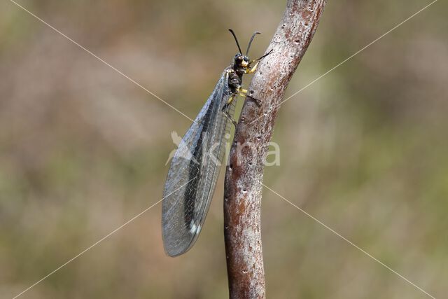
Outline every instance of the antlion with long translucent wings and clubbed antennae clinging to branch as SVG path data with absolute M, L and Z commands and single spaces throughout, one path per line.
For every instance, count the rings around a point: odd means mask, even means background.
M 232 118 L 235 98 L 247 93 L 241 88 L 242 77 L 253 73 L 258 62 L 272 52 L 250 61 L 248 50 L 260 32 L 253 33 L 243 55 L 235 32 L 229 31 L 239 53 L 224 69 L 209 99 L 183 136 L 169 167 L 162 202 L 162 237 L 169 256 L 179 256 L 195 244 L 221 169 L 225 134 L 230 132 L 230 123 L 237 124 Z

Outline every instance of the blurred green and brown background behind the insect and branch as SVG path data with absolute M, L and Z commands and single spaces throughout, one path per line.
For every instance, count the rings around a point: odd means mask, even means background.
M 20 1 L 194 118 L 286 1 Z M 288 95 L 430 1 L 332 1 Z M 286 102 L 265 183 L 442 298 L 448 281 L 447 1 Z M 243 47 L 244 47 L 243 46 Z M 12 298 L 160 200 L 190 121 L 0 3 L 0 297 Z M 247 79 L 246 79 L 246 82 Z M 240 104 L 241 104 L 240 100 Z M 223 173 L 197 244 L 165 256 L 160 204 L 20 298 L 226 298 Z M 265 190 L 269 298 L 428 298 Z

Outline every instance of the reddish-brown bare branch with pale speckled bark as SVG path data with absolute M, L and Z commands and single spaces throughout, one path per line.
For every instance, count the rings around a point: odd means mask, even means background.
M 244 102 L 225 173 L 224 236 L 230 298 L 265 298 L 260 233 L 262 176 L 281 99 L 327 0 L 288 0 Z M 255 151 L 253 151 L 255 149 Z

